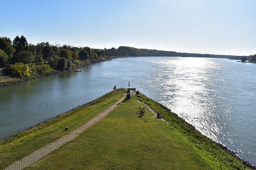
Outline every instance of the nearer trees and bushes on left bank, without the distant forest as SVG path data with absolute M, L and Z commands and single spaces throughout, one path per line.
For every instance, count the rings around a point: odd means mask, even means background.
M 30 74 L 46 74 L 54 70 L 78 68 L 86 64 L 87 59 L 118 56 L 115 48 L 91 49 L 71 45 L 41 42 L 29 44 L 26 37 L 17 35 L 13 40 L 0 37 L 0 67 L 6 67 L 10 76 L 28 77 Z

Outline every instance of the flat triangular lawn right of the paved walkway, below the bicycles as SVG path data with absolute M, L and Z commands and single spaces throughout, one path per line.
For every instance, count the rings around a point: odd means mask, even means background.
M 122 102 L 104 120 L 27 169 L 214 169 L 195 147 L 139 103 Z

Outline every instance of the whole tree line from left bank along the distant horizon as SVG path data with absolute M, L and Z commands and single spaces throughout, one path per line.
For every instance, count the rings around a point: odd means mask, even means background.
M 44 74 L 52 70 L 64 70 L 79 66 L 87 59 L 98 57 L 108 58 L 116 57 L 147 57 L 147 56 L 164 56 L 164 57 L 211 57 L 211 58 L 229 58 L 242 59 L 245 56 L 233 55 L 210 55 L 195 53 L 178 53 L 175 51 L 161 51 L 154 49 L 136 49 L 134 47 L 121 46 L 118 49 L 91 49 L 90 47 L 73 47 L 71 45 L 50 44 L 41 42 L 36 45 L 29 44 L 26 37 L 17 35 L 13 40 L 8 37 L 0 37 L 0 66 L 10 66 L 9 70 L 16 72 L 17 69 L 25 69 L 28 75 L 29 69 Z M 243 58 L 244 60 L 244 58 Z M 249 61 L 256 62 L 256 55 L 248 56 Z M 26 65 L 26 66 L 24 66 Z M 36 66 L 34 66 L 36 65 Z M 30 66 L 30 68 L 28 68 Z M 15 68 L 12 68 L 15 67 Z M 12 68 L 12 69 L 11 69 Z M 12 71 L 11 74 L 14 74 Z M 20 76 L 22 77 L 22 76 Z

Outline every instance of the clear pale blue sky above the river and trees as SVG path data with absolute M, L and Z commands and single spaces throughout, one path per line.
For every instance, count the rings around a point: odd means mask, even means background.
M 1 0 L 0 37 L 76 47 L 256 54 L 256 0 Z

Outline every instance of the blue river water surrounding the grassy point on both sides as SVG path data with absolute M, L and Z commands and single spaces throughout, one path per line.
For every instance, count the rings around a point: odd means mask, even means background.
M 255 64 L 192 57 L 128 57 L 0 88 L 0 140 L 90 102 L 135 87 L 202 134 L 256 164 Z

